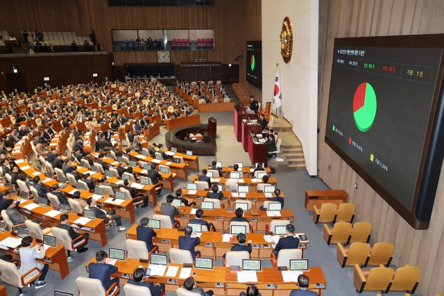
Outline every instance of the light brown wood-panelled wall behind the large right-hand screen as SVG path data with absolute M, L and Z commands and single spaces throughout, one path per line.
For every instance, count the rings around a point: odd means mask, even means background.
M 322 12 L 323 10 L 320 10 Z M 327 37 L 321 88 L 318 171 L 332 189 L 344 189 L 357 205 L 356 221 L 372 223 L 372 242 L 395 244 L 393 265 L 421 269 L 420 295 L 444 293 L 444 169 L 436 191 L 429 229 L 412 229 L 325 142 L 325 124 L 332 74 L 334 38 L 444 33 L 441 0 L 331 0 L 327 10 Z M 320 20 L 322 15 L 320 15 Z M 342 176 L 342 175 L 345 176 Z M 355 189 L 355 183 L 358 188 Z

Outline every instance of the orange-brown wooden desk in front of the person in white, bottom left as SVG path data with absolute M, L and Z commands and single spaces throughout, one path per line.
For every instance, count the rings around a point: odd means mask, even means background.
M 4 233 L 0 233 L 0 240 L 14 236 L 10 231 L 6 230 Z M 40 242 L 41 243 L 41 242 Z M 37 242 L 33 241 L 33 247 L 37 245 Z M 14 249 L 9 248 L 1 249 L 1 252 L 12 255 L 12 258 L 20 258 L 20 254 L 15 253 Z M 49 259 L 49 261 L 46 261 Z M 48 264 L 51 270 L 57 270 L 60 272 L 60 279 L 65 279 L 69 274 L 69 266 L 67 262 L 67 255 L 65 254 L 65 247 L 62 245 L 56 245 L 56 247 L 50 247 L 46 250 L 44 258 L 37 260 L 39 263 Z M 4 288 L 4 287 L 3 287 Z M 1 295 L 1 294 L 0 294 Z

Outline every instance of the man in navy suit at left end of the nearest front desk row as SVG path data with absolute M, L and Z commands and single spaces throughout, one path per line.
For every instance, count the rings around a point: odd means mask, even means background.
M 116 273 L 119 268 L 114 265 L 108 264 L 112 261 L 111 258 L 106 258 L 108 255 L 105 251 L 99 251 L 96 253 L 97 263 L 89 263 L 89 279 L 99 279 L 103 288 L 108 290 L 113 283 L 119 285 L 119 278 L 111 279 L 111 274 Z

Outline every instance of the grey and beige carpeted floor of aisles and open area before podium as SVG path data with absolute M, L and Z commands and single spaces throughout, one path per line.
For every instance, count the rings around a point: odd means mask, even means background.
M 199 156 L 200 169 L 205 165 L 211 163 L 211 161 L 217 159 L 222 161 L 225 165 L 231 165 L 236 162 L 244 162 L 250 164 L 248 154 L 244 152 L 241 147 L 241 143 L 237 142 L 234 138 L 233 132 L 233 113 L 201 113 L 200 121 L 207 122 L 208 117 L 216 116 L 218 120 L 217 126 L 217 155 L 214 156 Z M 162 127 L 160 129 L 160 135 L 153 138 L 151 142 L 165 143 L 164 134 L 166 129 Z M 196 172 L 189 170 L 189 178 L 194 176 Z M 278 188 L 285 193 L 285 207 L 291 208 L 295 215 L 294 224 L 296 231 L 303 231 L 309 238 L 309 245 L 305 257 L 309 259 L 309 265 L 321 266 L 327 279 L 327 289 L 323 295 L 357 295 L 355 287 L 352 283 L 352 268 L 341 268 L 336 261 L 336 246 L 327 246 L 322 236 L 322 225 L 316 226 L 311 219 L 311 212 L 306 211 L 304 208 L 305 190 L 310 189 L 327 189 L 327 186 L 318 178 L 311 177 L 307 171 L 293 171 L 293 172 L 280 172 L 275 174 L 278 179 Z M 176 179 L 174 181 L 174 187 L 185 186 L 185 181 Z M 158 202 L 164 202 L 165 197 L 169 195 L 169 191 L 162 190 L 162 194 L 157 199 Z M 136 223 L 142 217 L 152 217 L 153 206 L 148 208 L 138 208 L 136 211 Z M 130 228 L 128 220 L 122 220 L 123 227 Z M 74 295 L 78 295 L 76 288 L 77 277 L 87 277 L 88 274 L 85 270 L 85 264 L 94 256 L 96 252 L 104 249 L 108 252 L 109 247 L 117 247 L 125 249 L 125 233 L 118 233 L 117 228 L 108 230 L 108 245 L 102 248 L 99 242 L 90 240 L 87 247 L 89 250 L 83 254 L 77 254 L 73 252 L 76 257 L 73 262 L 69 263 L 69 276 L 63 281 L 60 281 L 60 275 L 58 272 L 49 270 L 46 276 L 46 286 L 39 290 L 34 288 L 25 288 L 30 295 L 53 295 L 53 290 L 65 290 Z M 222 261 L 219 259 L 216 265 L 221 266 Z M 271 267 L 269 260 L 262 260 L 262 266 Z M 17 295 L 17 288 L 13 288 L 6 284 L 8 295 Z M 123 288 L 123 287 L 121 287 Z M 167 293 L 168 295 L 174 295 L 174 293 Z M 389 295 L 395 295 L 395 293 L 389 293 Z M 123 292 L 121 293 L 123 295 Z M 363 293 L 362 295 L 375 295 L 375 293 Z M 400 295 L 398 293 L 398 295 Z

